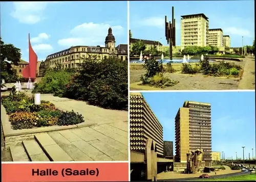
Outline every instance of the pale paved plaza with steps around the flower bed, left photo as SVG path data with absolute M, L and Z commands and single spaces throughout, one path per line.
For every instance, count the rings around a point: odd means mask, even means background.
M 84 101 L 42 94 L 64 111 L 78 112 L 90 127 L 5 138 L 13 161 L 127 161 L 128 113 L 106 110 Z M 8 159 L 8 153 L 2 157 Z

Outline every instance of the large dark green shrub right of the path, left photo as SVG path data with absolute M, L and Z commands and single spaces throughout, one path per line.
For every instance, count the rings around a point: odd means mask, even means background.
M 108 109 L 127 109 L 128 62 L 118 58 L 87 58 L 66 85 L 63 96 Z

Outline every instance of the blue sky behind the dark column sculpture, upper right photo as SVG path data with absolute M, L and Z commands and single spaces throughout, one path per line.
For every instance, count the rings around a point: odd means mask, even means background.
M 254 40 L 254 1 L 131 1 L 130 29 L 133 38 L 165 40 L 164 16 L 171 20 L 172 6 L 176 19 L 176 45 L 180 45 L 182 15 L 204 13 L 209 18 L 209 29 L 222 29 L 229 35 L 231 47 L 252 45 Z M 162 38 L 162 39 L 161 39 Z

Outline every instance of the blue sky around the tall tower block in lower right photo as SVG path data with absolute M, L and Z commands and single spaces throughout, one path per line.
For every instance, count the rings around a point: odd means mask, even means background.
M 175 142 L 175 116 L 185 100 L 211 104 L 212 151 L 225 158 L 255 157 L 255 92 L 151 92 L 142 93 L 163 126 L 163 138 Z M 175 148 L 175 145 L 174 145 Z M 174 149 L 175 152 L 175 149 Z

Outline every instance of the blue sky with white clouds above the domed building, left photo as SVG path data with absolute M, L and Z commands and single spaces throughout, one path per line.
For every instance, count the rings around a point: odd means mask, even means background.
M 109 27 L 116 46 L 127 44 L 127 2 L 1 2 L 2 40 L 25 61 L 29 33 L 41 61 L 72 45 L 104 45 Z

